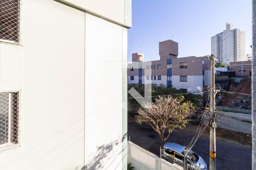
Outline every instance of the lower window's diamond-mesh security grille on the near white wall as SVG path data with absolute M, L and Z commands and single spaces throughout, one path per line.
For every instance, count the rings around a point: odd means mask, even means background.
M 0 145 L 18 143 L 19 92 L 0 92 Z

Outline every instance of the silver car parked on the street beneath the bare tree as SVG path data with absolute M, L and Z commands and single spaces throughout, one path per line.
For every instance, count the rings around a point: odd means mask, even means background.
M 183 166 L 185 147 L 177 143 L 166 142 L 164 143 L 163 155 L 164 158 L 171 163 L 176 163 Z M 200 166 L 201 170 L 207 170 L 207 164 L 201 156 L 197 155 L 193 151 L 188 152 L 188 168 L 196 170 L 197 166 Z

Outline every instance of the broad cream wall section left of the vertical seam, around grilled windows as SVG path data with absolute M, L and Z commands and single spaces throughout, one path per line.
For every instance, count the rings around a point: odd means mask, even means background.
M 0 169 L 81 169 L 85 14 L 26 0 L 20 16 L 22 45 L 0 42 L 0 91 L 20 90 L 19 146 L 1 148 Z

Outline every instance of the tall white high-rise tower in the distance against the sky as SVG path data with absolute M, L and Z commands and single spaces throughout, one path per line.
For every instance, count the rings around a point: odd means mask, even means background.
M 226 29 L 211 38 L 212 54 L 219 62 L 228 64 L 245 61 L 245 31 L 226 23 Z

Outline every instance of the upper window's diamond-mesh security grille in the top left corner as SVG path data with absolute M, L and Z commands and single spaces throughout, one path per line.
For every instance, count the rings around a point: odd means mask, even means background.
M 0 0 L 0 39 L 19 42 L 20 0 Z

